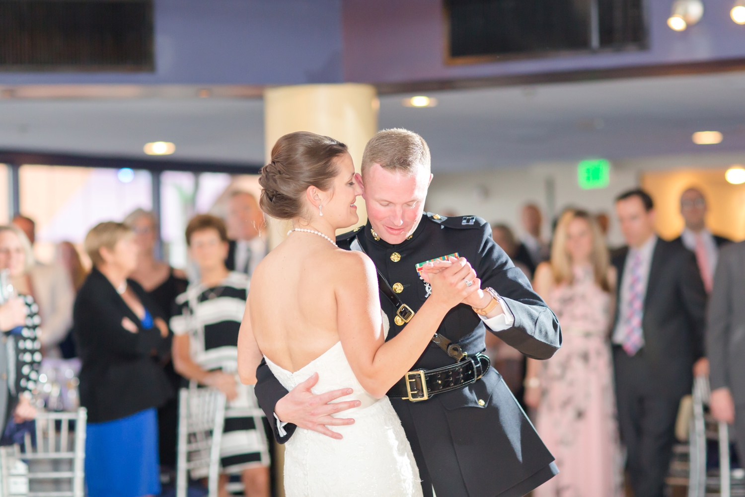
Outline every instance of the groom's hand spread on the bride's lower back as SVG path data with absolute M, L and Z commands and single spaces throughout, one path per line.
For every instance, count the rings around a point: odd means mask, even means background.
M 351 408 L 357 408 L 360 406 L 361 402 L 358 400 L 350 400 L 329 404 L 329 402 L 332 402 L 339 397 L 350 395 L 352 389 L 341 388 L 340 390 L 333 390 L 331 392 L 316 395 L 311 392 L 311 387 L 313 387 L 317 382 L 318 373 L 313 373 L 313 376 L 305 380 L 305 382 L 297 384 L 297 387 L 294 387 L 287 395 L 282 397 L 282 399 L 279 399 L 274 406 L 274 414 L 276 414 L 282 422 L 291 422 L 299 428 L 317 431 L 327 437 L 341 440 L 341 434 L 338 434 L 336 431 L 331 431 L 326 427 L 352 425 L 355 420 L 332 417 L 332 414 L 346 411 Z

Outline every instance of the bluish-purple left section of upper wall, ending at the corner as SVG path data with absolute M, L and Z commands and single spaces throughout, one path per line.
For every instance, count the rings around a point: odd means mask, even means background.
M 3 73 L 0 84 L 338 83 L 340 0 L 155 0 L 154 73 Z

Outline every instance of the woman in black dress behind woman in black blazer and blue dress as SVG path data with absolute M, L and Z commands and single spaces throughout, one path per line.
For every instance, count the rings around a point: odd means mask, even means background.
M 166 320 L 171 319 L 176 297 L 186 291 L 188 281 L 186 274 L 180 269 L 171 268 L 165 262 L 155 257 L 156 244 L 159 238 L 158 221 L 152 212 L 135 209 L 124 218 L 124 224 L 135 233 L 135 243 L 139 247 L 137 266 L 130 278 L 138 282 L 143 290 L 162 311 Z M 174 391 L 178 391 L 182 378 L 174 370 L 170 352 L 161 361 L 165 376 L 171 382 Z M 172 472 L 176 469 L 176 444 L 178 431 L 178 399 L 171 400 L 158 408 L 158 434 L 160 465 Z

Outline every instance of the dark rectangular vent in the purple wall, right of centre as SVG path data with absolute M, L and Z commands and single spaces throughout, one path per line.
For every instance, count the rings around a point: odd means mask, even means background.
M 646 48 L 644 0 L 445 0 L 448 63 Z

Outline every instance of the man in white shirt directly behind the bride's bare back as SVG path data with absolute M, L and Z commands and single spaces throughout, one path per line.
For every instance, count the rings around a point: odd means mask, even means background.
M 230 241 L 225 266 L 251 276 L 267 255 L 266 239 L 261 237 L 264 214 L 253 194 L 234 191 L 230 195 L 226 225 Z

